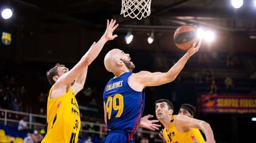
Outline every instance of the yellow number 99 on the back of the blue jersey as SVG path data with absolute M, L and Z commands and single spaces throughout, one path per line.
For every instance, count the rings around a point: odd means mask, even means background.
M 116 118 L 122 115 L 122 111 L 124 110 L 124 97 L 121 94 L 116 94 L 114 97 L 107 97 L 106 103 L 106 111 L 107 111 L 107 119 L 111 118 L 112 110 L 118 110 L 116 114 Z

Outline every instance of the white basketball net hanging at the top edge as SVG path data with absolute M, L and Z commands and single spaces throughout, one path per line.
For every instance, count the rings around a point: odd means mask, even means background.
M 142 19 L 150 15 L 151 0 L 122 0 L 120 14 L 134 19 Z

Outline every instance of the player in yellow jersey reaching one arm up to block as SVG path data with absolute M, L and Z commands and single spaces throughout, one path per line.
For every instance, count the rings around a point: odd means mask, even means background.
M 106 31 L 97 43 L 89 48 L 80 61 L 69 71 L 63 64 L 56 64 L 47 72 L 52 84 L 47 101 L 47 134 L 42 143 L 78 142 L 81 121 L 75 95 L 83 89 L 89 64 L 98 56 L 104 44 L 113 40 L 118 27 L 116 20 L 107 20 Z

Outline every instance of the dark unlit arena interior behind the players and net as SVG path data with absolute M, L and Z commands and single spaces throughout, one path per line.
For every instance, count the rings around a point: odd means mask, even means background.
M 146 88 L 144 115 L 155 115 L 153 105 L 158 98 L 170 99 L 176 110 L 181 103 L 191 103 L 197 106 L 196 118 L 211 124 L 216 142 L 254 141 L 256 122 L 251 118 L 256 116 L 256 8 L 252 7 L 251 2 L 244 1 L 240 9 L 234 9 L 230 1 L 222 0 L 152 0 L 152 14 L 137 20 L 120 15 L 121 1 L 117 0 L 1 1 L 0 6 L 9 4 L 14 9 L 11 19 L 0 20 L 1 33 L 12 35 L 10 45 L 0 45 L 1 78 L 4 80 L 6 75 L 14 76 L 17 85 L 25 86 L 27 104 L 22 108 L 23 111 L 33 112 L 39 108 L 35 101 L 40 93 L 47 94 L 50 88 L 45 72 L 55 63 L 73 67 L 93 41 L 99 40 L 106 19 L 116 19 L 120 24 L 116 30 L 119 37 L 109 41 L 89 66 L 85 85 L 85 89 L 93 91 L 97 105 L 90 108 L 100 120 L 103 118 L 101 93 L 104 84 L 112 77 L 103 64 L 107 51 L 120 48 L 130 53 L 136 66 L 135 72 L 167 71 L 185 53 L 173 43 L 175 28 L 192 24 L 213 30 L 215 40 L 212 43 L 203 41 L 198 53 L 189 59 L 174 82 Z M 134 35 L 129 45 L 124 40 L 127 32 Z M 155 40 L 149 45 L 147 37 L 151 32 L 154 32 Z M 239 62 L 227 65 L 228 55 Z M 201 75 L 203 70 L 214 76 L 218 87 L 216 93 L 209 93 L 211 83 L 206 82 L 207 76 Z M 196 73 L 202 76 L 202 82 L 194 79 Z M 226 76 L 234 80 L 235 89 L 226 89 Z M 201 110 L 201 95 L 250 97 L 253 103 L 249 109 L 252 111 L 205 113 Z M 91 100 L 91 97 L 86 97 L 86 92 L 80 93 L 77 98 L 85 108 Z M 92 116 L 88 112 L 84 115 Z

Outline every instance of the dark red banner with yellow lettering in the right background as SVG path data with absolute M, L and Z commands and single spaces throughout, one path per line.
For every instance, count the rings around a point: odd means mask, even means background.
M 256 113 L 253 95 L 201 95 L 203 113 Z

